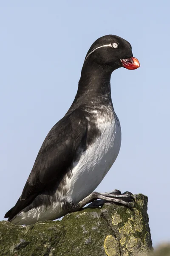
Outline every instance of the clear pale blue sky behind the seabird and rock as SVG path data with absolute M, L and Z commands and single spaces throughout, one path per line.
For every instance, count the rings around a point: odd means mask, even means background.
M 147 195 L 153 244 L 170 240 L 169 10 L 153 0 L 0 1 L 1 220 L 70 107 L 89 47 L 113 34 L 130 42 L 141 67 L 112 74 L 122 146 L 96 190 Z

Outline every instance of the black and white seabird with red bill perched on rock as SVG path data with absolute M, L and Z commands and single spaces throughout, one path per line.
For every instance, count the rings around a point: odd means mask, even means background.
M 93 192 L 121 145 L 110 84 L 119 67 L 140 67 L 131 45 L 115 35 L 97 39 L 85 57 L 74 102 L 42 143 L 22 195 L 5 215 L 8 221 L 29 225 L 54 220 L 96 199 L 130 207 L 128 192 Z

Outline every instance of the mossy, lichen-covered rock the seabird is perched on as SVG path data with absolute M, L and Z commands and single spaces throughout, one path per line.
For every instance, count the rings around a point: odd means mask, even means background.
M 61 221 L 30 226 L 0 222 L 0 256 L 136 256 L 152 249 L 147 197 L 133 210 L 117 204 L 85 208 Z

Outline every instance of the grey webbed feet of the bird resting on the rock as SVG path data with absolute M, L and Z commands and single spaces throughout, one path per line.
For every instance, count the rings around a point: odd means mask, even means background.
M 106 202 L 119 203 L 132 209 L 132 201 L 134 201 L 134 198 L 132 196 L 132 193 L 128 191 L 124 192 L 123 194 L 117 189 L 106 193 L 93 192 L 86 198 L 84 198 L 82 201 L 80 201 L 77 205 L 72 206 L 71 211 L 78 211 L 79 209 L 81 209 L 82 207 L 89 203 L 91 204 L 88 205 L 88 208 L 101 206 Z

